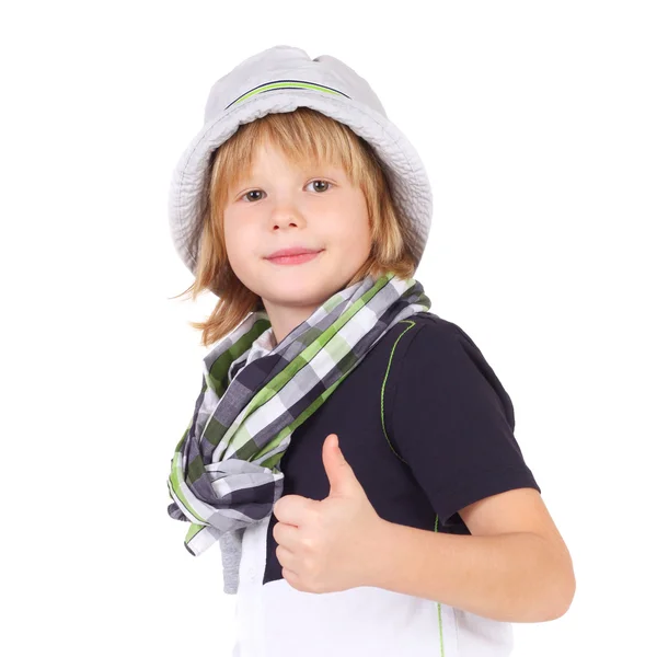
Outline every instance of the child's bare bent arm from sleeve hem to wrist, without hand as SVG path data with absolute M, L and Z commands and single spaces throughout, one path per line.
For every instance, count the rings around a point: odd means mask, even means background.
M 460 511 L 472 535 L 382 520 L 364 586 L 436 600 L 482 616 L 541 622 L 575 595 L 568 550 L 540 494 L 517 488 Z

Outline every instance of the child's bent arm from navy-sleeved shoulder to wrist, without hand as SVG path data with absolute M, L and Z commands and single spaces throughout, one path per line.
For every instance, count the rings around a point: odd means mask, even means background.
M 472 535 L 387 522 L 371 581 L 500 621 L 563 615 L 573 564 L 514 435 L 510 396 L 458 325 L 435 320 L 408 337 L 387 383 L 387 435 L 442 525 L 458 512 Z

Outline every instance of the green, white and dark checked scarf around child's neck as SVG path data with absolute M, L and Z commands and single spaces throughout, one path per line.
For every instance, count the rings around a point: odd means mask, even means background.
M 193 555 L 220 540 L 224 592 L 237 592 L 243 530 L 267 517 L 283 494 L 277 464 L 292 431 L 391 326 L 429 308 L 415 279 L 368 276 L 333 295 L 230 382 L 233 361 L 246 360 L 270 327 L 264 311 L 249 314 L 204 358 L 194 415 L 171 459 L 168 510 L 192 523 L 184 543 Z

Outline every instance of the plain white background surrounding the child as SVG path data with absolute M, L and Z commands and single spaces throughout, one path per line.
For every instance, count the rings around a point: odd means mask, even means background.
M 166 512 L 206 350 L 168 189 L 215 80 L 362 74 L 435 197 L 416 278 L 516 408 L 575 563 L 515 657 L 657 654 L 653 2 L 23 2 L 0 15 L 3 654 L 229 655 L 218 546 Z M 293 619 L 283 622 L 290 624 Z M 286 627 L 287 630 L 287 627 Z M 187 653 L 189 654 L 189 653 Z

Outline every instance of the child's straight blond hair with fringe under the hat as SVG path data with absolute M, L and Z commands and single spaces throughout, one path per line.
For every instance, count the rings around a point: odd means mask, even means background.
M 196 277 L 184 292 L 172 297 L 176 299 L 187 295 L 195 300 L 206 289 L 219 297 L 205 322 L 189 322 L 203 332 L 200 344 L 205 347 L 228 335 L 251 312 L 264 310 L 261 297 L 250 290 L 230 267 L 223 235 L 223 208 L 228 189 L 251 171 L 256 149 L 266 143 L 278 147 L 296 166 L 312 166 L 321 162 L 342 166 L 351 184 L 361 188 L 368 208 L 372 247 L 362 267 L 345 287 L 368 275 L 378 278 L 388 272 L 411 278 L 417 267 L 413 256 L 413 253 L 419 252 L 417 237 L 394 204 L 383 166 L 371 146 L 348 126 L 310 107 L 266 114 L 241 125 L 211 154 L 205 207 L 196 227 L 197 234 L 193 238 L 198 242 Z

